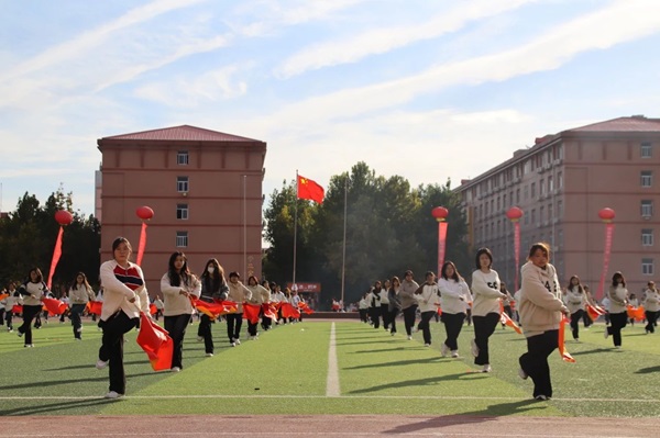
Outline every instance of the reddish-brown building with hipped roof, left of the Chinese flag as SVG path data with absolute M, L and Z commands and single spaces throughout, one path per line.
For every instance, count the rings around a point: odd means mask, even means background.
M 266 143 L 188 125 L 97 143 L 101 260 L 112 257 L 117 236 L 129 238 L 135 260 L 142 223 L 135 211 L 147 205 L 154 217 L 142 268 L 152 295 L 173 251 L 184 251 L 197 274 L 217 258 L 227 274 L 261 276 Z

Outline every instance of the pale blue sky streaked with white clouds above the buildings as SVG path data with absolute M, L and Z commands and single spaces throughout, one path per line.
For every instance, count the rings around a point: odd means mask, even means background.
M 0 0 L 2 211 L 94 213 L 97 139 L 194 125 L 267 143 L 266 195 L 364 161 L 413 187 L 536 137 L 660 116 L 657 0 Z M 267 205 L 267 203 L 266 203 Z

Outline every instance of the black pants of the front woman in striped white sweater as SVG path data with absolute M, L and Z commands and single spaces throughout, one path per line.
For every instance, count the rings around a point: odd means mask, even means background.
M 108 321 L 101 321 L 103 337 L 99 348 L 99 359 L 109 361 L 110 391 L 127 392 L 127 374 L 123 368 L 123 335 L 138 326 L 139 318 L 131 318 L 119 311 Z

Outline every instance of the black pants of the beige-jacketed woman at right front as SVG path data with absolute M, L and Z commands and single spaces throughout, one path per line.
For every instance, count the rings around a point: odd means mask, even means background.
M 563 323 L 562 323 L 563 324 Z M 534 382 L 534 396 L 552 396 L 548 356 L 559 346 L 559 330 L 543 332 L 527 338 L 527 352 L 520 356 L 520 368 Z

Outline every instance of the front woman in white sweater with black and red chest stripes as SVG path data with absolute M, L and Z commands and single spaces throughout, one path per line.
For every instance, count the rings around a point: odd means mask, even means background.
M 109 364 L 110 390 L 106 398 L 125 394 L 127 375 L 123 367 L 124 334 L 138 326 L 140 313 L 148 315 L 148 294 L 142 269 L 132 263 L 131 243 L 125 237 L 112 242 L 112 260 L 101 265 L 103 307 L 99 326 L 103 330 L 96 368 Z

